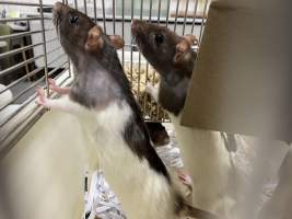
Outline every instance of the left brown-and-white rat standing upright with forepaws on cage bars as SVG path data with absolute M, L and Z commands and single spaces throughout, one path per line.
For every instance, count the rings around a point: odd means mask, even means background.
M 122 39 L 104 34 L 85 14 L 60 2 L 54 23 L 77 74 L 57 100 L 38 88 L 38 104 L 78 116 L 100 166 L 129 219 L 215 218 L 188 205 L 151 145 L 140 108 L 116 49 Z

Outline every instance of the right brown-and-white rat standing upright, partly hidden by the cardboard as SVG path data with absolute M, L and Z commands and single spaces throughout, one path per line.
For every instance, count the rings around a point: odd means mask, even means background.
M 192 204 L 230 218 L 235 205 L 233 168 L 230 153 L 219 131 L 180 125 L 180 114 L 195 67 L 197 39 L 178 36 L 165 26 L 133 20 L 133 38 L 145 59 L 160 74 L 159 85 L 147 84 L 145 91 L 171 116 L 183 161 L 194 184 Z

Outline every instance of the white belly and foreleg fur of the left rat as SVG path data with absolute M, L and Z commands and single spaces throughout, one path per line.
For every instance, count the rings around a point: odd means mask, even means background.
M 101 168 L 129 219 L 177 219 L 174 191 L 166 177 L 139 159 L 124 140 L 122 131 L 132 112 L 126 102 L 103 110 L 87 110 L 69 96 L 45 99 L 43 105 L 78 115 L 96 149 Z

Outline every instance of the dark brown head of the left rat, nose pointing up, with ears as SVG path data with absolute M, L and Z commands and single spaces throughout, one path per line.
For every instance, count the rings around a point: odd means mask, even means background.
M 54 4 L 54 23 L 62 47 L 73 61 L 78 55 L 102 55 L 108 45 L 113 48 L 124 46 L 122 38 L 105 35 L 86 14 L 60 2 Z

